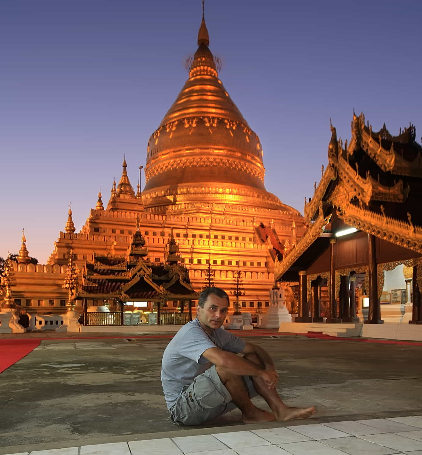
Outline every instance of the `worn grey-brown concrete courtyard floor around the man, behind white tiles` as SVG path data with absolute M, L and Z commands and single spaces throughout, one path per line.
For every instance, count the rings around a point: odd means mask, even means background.
M 247 340 L 273 356 L 286 404 L 317 406 L 312 423 L 422 415 L 420 346 L 276 334 Z M 171 423 L 160 382 L 168 342 L 130 336 L 43 340 L 0 374 L 0 454 L 36 450 L 28 446 L 205 435 L 216 427 L 254 430 L 241 423 L 238 410 L 200 427 Z

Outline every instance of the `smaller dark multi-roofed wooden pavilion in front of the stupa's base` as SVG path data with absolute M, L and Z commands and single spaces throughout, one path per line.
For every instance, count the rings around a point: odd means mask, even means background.
M 77 296 L 83 300 L 84 324 L 88 319 L 88 299 L 114 301 L 116 306 L 120 305 L 121 325 L 124 325 L 124 303 L 137 301 L 149 302 L 151 309 L 157 312 L 157 324 L 182 323 L 192 319 L 192 300 L 198 297 L 198 293 L 190 284 L 188 269 L 181 264 L 173 230 L 166 245 L 164 263 L 153 263 L 147 255 L 145 239 L 139 230 L 139 218 L 126 255 L 94 252 L 93 262 L 86 263 L 81 291 Z M 178 313 L 183 313 L 183 307 L 187 306 L 188 318 L 160 317 L 160 310 L 167 307 L 168 301 L 179 302 Z

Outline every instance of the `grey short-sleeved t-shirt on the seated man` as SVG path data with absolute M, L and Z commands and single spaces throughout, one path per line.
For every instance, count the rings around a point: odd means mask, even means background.
M 208 335 L 193 319 L 185 324 L 173 337 L 163 354 L 161 364 L 161 383 L 170 409 L 176 402 L 185 386 L 192 384 L 193 379 L 211 366 L 203 357 L 209 348 L 220 348 L 238 354 L 246 343 L 224 329 L 214 329 Z

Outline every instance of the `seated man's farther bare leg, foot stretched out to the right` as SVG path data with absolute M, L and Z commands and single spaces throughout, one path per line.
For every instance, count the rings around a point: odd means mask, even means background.
M 244 359 L 263 368 L 263 365 L 256 354 L 245 354 Z M 261 378 L 252 377 L 252 382 L 254 383 L 255 390 L 268 403 L 277 420 L 307 419 L 316 412 L 314 406 L 310 406 L 309 408 L 286 406 L 277 393 L 277 390 L 275 388 L 268 389 Z

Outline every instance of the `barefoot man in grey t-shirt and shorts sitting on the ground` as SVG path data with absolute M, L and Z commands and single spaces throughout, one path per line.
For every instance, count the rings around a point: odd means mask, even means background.
M 228 306 L 223 289 L 203 290 L 196 319 L 185 324 L 164 351 L 161 382 L 173 423 L 200 425 L 236 407 L 246 424 L 315 414 L 313 406 L 283 403 L 275 389 L 279 375 L 264 349 L 220 329 Z M 272 413 L 251 402 L 256 395 L 265 399 Z

